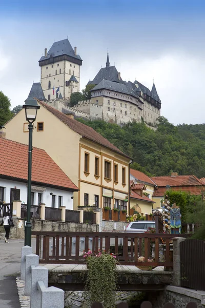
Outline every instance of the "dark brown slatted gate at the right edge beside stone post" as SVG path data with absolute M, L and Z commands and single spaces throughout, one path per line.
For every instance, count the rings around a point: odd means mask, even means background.
M 205 291 L 205 242 L 180 243 L 181 286 Z

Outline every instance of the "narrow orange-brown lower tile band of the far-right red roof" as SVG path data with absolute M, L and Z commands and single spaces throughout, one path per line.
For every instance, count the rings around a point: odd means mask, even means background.
M 190 192 L 191 195 L 201 195 L 201 190 L 204 190 L 205 186 L 172 186 L 171 189 L 174 191 L 186 191 Z M 154 194 L 152 197 L 163 197 L 165 192 L 167 191 L 166 187 L 159 187 L 158 189 L 154 189 Z

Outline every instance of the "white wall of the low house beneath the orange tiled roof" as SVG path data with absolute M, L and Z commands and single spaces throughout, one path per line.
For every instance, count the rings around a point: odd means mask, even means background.
M 63 197 L 62 205 L 66 206 L 67 209 L 73 209 L 73 199 L 71 199 L 71 197 L 73 196 L 72 191 L 50 188 L 46 186 L 37 186 L 37 185 L 32 185 L 32 186 L 35 186 L 35 189 L 31 189 L 31 191 L 34 192 L 33 205 L 38 205 L 38 192 L 40 192 L 43 194 L 42 202 L 46 203 L 46 206 L 51 207 L 52 197 L 50 195 L 50 192 L 52 192 L 53 195 L 56 196 L 55 207 L 58 207 L 58 196 L 62 196 Z M 16 188 L 20 189 L 20 200 L 27 204 L 27 183 L 0 179 L 0 187 L 4 187 L 4 201 L 6 203 L 10 203 L 10 189 Z M 44 188 L 44 191 L 38 189 L 38 187 Z

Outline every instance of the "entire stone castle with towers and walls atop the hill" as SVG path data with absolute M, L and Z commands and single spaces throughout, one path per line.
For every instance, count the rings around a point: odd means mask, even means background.
M 156 125 L 161 101 L 155 84 L 150 91 L 137 80 L 123 81 L 116 67 L 110 66 L 109 54 L 106 66 L 88 82 L 94 85 L 91 99 L 70 107 L 71 94 L 79 92 L 82 61 L 68 39 L 54 42 L 48 52 L 45 48 L 39 60 L 40 83 L 33 84 L 28 98 L 36 97 L 59 111 L 91 121 L 101 119 L 118 125 L 145 121 L 149 126 Z

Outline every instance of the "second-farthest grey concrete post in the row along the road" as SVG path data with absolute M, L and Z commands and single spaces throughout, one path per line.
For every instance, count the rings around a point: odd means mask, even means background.
M 31 296 L 31 265 L 38 266 L 39 257 L 34 254 L 26 256 L 25 295 Z

